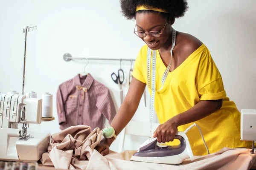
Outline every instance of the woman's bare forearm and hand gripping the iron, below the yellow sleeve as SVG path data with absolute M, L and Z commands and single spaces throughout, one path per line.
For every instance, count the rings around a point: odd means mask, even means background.
M 203 119 L 206 116 L 214 113 L 222 106 L 222 99 L 218 100 L 201 100 L 194 107 L 180 113 L 165 123 L 159 125 L 154 132 L 154 138 L 157 137 L 157 142 L 170 142 L 174 140 L 177 133 L 177 127 L 186 125 L 191 122 Z

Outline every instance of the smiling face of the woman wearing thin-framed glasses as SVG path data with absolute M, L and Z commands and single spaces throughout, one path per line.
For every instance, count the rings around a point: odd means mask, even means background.
M 166 21 L 167 18 L 158 12 L 136 13 L 137 31 L 144 31 L 145 33 L 163 31 L 160 37 L 157 38 L 152 37 L 150 34 L 146 34 L 146 37 L 141 38 L 150 49 L 160 49 L 171 36 L 172 26 L 170 22 L 166 23 Z

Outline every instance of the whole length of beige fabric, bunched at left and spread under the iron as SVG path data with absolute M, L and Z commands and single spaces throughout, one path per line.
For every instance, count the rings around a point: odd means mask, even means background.
M 136 150 L 122 153 L 110 151 L 102 156 L 94 150 L 102 139 L 99 128 L 72 126 L 52 135 L 48 152 L 43 154 L 44 166 L 55 169 L 77 170 L 249 170 L 256 162 L 250 149 L 222 148 L 207 156 L 195 156 L 195 161 L 184 160 L 180 165 L 130 161 Z

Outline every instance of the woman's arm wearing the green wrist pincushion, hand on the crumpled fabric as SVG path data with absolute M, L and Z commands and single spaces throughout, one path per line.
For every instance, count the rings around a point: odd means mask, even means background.
M 146 84 L 132 77 L 127 95 L 122 103 L 119 111 L 116 113 L 111 127 L 114 128 L 116 136 L 123 130 L 123 128 L 130 122 L 140 104 L 140 99 L 145 90 Z M 110 139 L 103 139 L 102 142 L 96 146 L 96 150 L 103 156 L 109 153 L 109 147 L 114 141 L 114 137 Z

